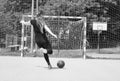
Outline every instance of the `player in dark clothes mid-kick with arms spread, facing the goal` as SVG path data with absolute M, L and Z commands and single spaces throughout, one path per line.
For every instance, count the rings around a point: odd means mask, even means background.
M 52 31 L 48 28 L 48 26 L 45 24 L 44 20 L 42 19 L 41 15 L 38 14 L 40 17 L 38 18 L 35 17 L 34 19 L 25 22 L 24 20 L 21 20 L 20 23 L 25 24 L 25 25 L 33 25 L 34 28 L 34 33 L 35 33 L 35 42 L 38 45 L 38 47 L 42 50 L 44 54 L 44 58 L 48 64 L 48 68 L 51 69 L 52 66 L 49 61 L 49 56 L 48 54 L 52 54 L 52 46 L 50 42 L 48 41 L 48 38 L 46 36 L 46 31 L 57 38 L 57 35 L 52 33 Z

